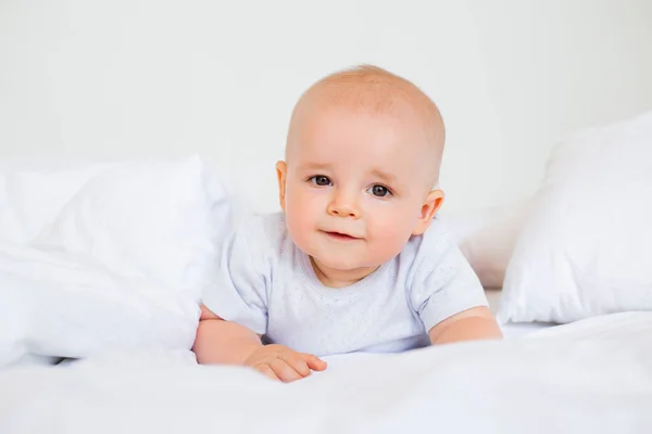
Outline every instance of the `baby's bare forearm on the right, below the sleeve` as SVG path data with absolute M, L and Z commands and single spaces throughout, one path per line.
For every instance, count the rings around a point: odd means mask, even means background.
M 428 332 L 432 344 L 502 339 L 502 332 L 489 308 L 474 307 L 444 319 Z

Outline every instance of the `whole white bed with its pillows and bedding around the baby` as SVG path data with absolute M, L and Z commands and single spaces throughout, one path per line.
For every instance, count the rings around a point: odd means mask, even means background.
M 200 157 L 5 169 L 0 432 L 650 433 L 651 143 L 652 114 L 574 136 L 507 255 L 474 237 L 513 225 L 460 239 L 486 286 L 504 275 L 505 340 L 331 356 L 291 384 L 189 350 L 238 218 Z

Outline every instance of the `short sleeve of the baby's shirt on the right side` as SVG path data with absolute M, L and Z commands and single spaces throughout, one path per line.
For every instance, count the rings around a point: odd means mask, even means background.
M 432 222 L 415 254 L 410 301 L 426 332 L 455 314 L 488 306 L 480 280 L 441 222 Z

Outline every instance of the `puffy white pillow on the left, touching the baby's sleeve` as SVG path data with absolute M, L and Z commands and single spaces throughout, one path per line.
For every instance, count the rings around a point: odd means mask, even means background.
M 227 196 L 199 157 L 124 163 L 95 174 L 33 246 L 200 299 L 229 225 Z

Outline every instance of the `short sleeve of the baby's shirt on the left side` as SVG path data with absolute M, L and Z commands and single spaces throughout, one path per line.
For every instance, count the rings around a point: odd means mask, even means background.
M 224 242 L 213 288 L 202 303 L 218 317 L 237 322 L 258 334 L 267 331 L 269 263 L 264 258 L 263 231 L 243 224 Z

